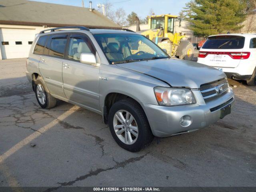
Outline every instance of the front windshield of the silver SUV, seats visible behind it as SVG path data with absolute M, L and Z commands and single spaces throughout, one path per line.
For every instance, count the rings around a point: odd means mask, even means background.
M 111 64 L 169 58 L 162 49 L 138 34 L 96 34 L 96 41 Z

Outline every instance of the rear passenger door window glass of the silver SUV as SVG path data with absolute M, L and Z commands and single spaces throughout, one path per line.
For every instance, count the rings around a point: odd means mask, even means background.
M 49 49 L 49 56 L 64 57 L 68 35 L 53 36 Z

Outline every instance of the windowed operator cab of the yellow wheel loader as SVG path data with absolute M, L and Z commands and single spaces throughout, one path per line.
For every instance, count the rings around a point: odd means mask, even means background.
M 148 17 L 148 24 L 150 25 L 151 30 L 160 29 L 163 32 L 163 36 L 165 33 L 174 34 L 174 19 L 177 16 L 172 16 L 169 14 L 160 15 L 160 16 L 150 16 Z

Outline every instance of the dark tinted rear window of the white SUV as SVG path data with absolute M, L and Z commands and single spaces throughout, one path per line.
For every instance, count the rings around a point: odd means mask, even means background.
M 242 49 L 244 48 L 243 36 L 213 36 L 209 37 L 204 45 L 203 49 Z

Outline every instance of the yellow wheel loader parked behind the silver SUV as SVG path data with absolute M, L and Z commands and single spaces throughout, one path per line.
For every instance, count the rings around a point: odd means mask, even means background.
M 141 30 L 137 19 L 138 33 L 155 42 L 167 54 L 180 59 L 192 60 L 194 57 L 194 46 L 192 43 L 182 40 L 185 35 L 175 32 L 174 20 L 177 16 L 170 14 L 152 15 L 148 17 L 149 30 Z

